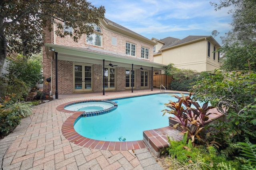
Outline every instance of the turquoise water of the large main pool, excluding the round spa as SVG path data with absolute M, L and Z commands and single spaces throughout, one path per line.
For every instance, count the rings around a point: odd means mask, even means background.
M 143 139 L 143 131 L 169 125 L 168 113 L 163 115 L 164 104 L 177 99 L 168 94 L 155 94 L 114 100 L 116 110 L 98 116 L 81 117 L 74 129 L 84 137 L 101 141 L 137 141 Z

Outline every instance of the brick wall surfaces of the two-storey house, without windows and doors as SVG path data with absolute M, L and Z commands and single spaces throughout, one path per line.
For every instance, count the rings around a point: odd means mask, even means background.
M 125 35 L 112 32 L 110 30 L 102 29 L 102 47 L 94 46 L 86 44 L 86 35 L 83 35 L 78 43 L 74 42 L 72 37 L 67 36 L 65 38 L 55 37 L 53 31 L 49 32 L 48 29 L 44 29 L 46 33 L 46 41 L 45 43 L 55 43 L 57 45 L 66 45 L 71 47 L 87 47 L 92 46 L 99 49 L 104 49 L 107 51 L 112 51 L 115 53 L 126 53 L 126 42 L 132 43 L 136 45 L 136 57 L 140 58 L 141 47 L 145 47 L 150 49 L 149 61 L 153 61 L 153 45 L 148 45 L 146 43 L 140 42 L 131 37 L 127 37 Z M 112 37 L 116 37 L 117 45 L 112 45 Z M 132 56 L 128 56 L 132 57 Z M 132 57 L 133 58 L 133 57 Z M 143 59 L 142 59 L 143 60 Z M 75 61 L 74 61 L 75 62 Z M 77 62 L 76 62 L 77 63 Z M 90 61 L 84 61 L 84 63 L 90 63 Z M 51 75 L 51 64 L 52 64 L 52 75 Z M 102 92 L 102 65 L 94 64 L 93 65 L 93 92 Z M 43 48 L 43 71 L 44 78 L 48 78 L 52 76 L 52 93 L 55 94 L 56 91 L 56 77 L 55 77 L 55 60 L 51 57 L 46 57 L 45 49 Z M 125 71 L 124 67 L 116 67 L 116 90 L 125 90 Z M 135 81 L 136 81 L 136 89 L 140 89 L 140 69 L 136 71 Z M 149 71 L 149 87 L 151 87 L 151 76 Z M 46 80 L 44 80 L 46 82 Z M 59 94 L 68 94 L 73 93 L 73 62 L 72 61 L 62 61 L 58 60 L 58 93 Z M 44 84 L 44 92 L 50 92 L 50 86 Z

